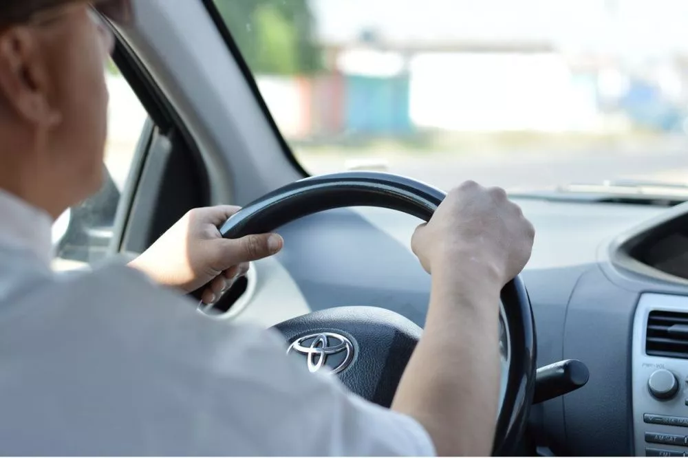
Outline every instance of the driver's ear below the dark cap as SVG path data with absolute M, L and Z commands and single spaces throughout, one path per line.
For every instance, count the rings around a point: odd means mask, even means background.
M 0 33 L 0 96 L 23 120 L 52 127 L 61 116 L 50 103 L 48 66 L 40 45 L 39 36 L 29 28 Z

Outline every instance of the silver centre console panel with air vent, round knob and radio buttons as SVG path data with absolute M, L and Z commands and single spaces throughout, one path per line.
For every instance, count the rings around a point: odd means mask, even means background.
M 688 296 L 641 296 L 632 343 L 637 456 L 688 457 Z

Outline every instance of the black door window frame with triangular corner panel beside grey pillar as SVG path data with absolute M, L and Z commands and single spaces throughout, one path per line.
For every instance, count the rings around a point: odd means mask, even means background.
M 160 87 L 155 84 L 136 53 L 127 44 L 125 37 L 112 23 L 108 23 L 108 25 L 115 36 L 112 60 L 148 116 L 142 125 L 136 148 L 133 151 L 127 180 L 120 190 L 120 198 L 112 226 L 112 236 L 105 252 L 105 260 L 121 254 L 124 254 L 125 257 L 133 257 L 133 255 L 142 252 L 154 239 L 157 239 L 160 235 L 158 234 L 160 228 L 169 228 L 176 221 L 176 219 L 174 221 L 170 221 L 170 219 L 181 217 L 184 212 L 195 206 L 207 205 L 210 200 L 208 176 L 200 150 L 191 133 L 184 126 L 180 116 L 175 113 Z M 168 154 L 161 160 L 155 161 L 155 173 L 146 174 L 146 168 L 151 162 L 151 149 L 155 146 L 155 140 L 160 138 L 169 140 Z M 172 151 L 174 152 L 173 157 L 171 157 Z M 184 177 L 180 177 L 180 173 L 182 173 L 179 166 L 180 160 L 186 165 L 192 165 L 192 167 L 182 167 L 185 169 L 183 173 L 188 173 Z M 166 176 L 169 173 L 173 173 L 174 176 Z M 178 208 L 175 206 L 174 196 L 168 197 L 161 190 L 169 189 L 169 182 L 180 178 L 182 182 L 188 183 L 189 175 L 193 175 L 191 182 L 194 184 L 193 193 L 189 194 L 196 193 L 199 197 L 193 200 L 193 205 L 184 205 L 184 208 Z M 182 190 L 182 193 L 185 191 L 188 189 Z M 147 210 L 141 210 L 138 208 L 140 207 L 141 195 L 147 194 L 156 194 L 157 198 L 149 201 Z M 141 233 L 137 234 L 136 232 Z M 128 246 L 131 245 L 140 248 L 132 252 L 128 249 Z M 90 246 L 84 247 L 87 252 L 90 252 L 90 248 Z M 67 258 L 64 261 L 91 263 L 93 260 L 78 261 Z M 98 261 L 100 259 L 96 260 L 96 262 Z

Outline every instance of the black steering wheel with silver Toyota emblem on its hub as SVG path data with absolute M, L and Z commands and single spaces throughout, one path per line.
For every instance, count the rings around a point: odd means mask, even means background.
M 223 237 L 270 232 L 294 219 L 332 208 L 376 206 L 428 221 L 445 194 L 389 173 L 334 173 L 301 179 L 242 208 L 220 228 Z M 535 323 L 519 277 L 504 286 L 499 311 L 502 380 L 494 455 L 513 455 L 524 432 L 535 388 Z M 329 370 L 354 393 L 385 407 L 420 338 L 411 320 L 378 307 L 336 307 L 275 326 L 288 353 L 312 372 Z M 442 355 L 437 355 L 442 358 Z

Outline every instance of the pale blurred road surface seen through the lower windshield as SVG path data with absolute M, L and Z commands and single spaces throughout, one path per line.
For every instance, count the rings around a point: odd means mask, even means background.
M 484 186 L 547 188 L 606 179 L 644 179 L 688 185 L 688 138 L 663 138 L 642 145 L 588 149 L 444 153 L 297 153 L 309 173 L 343 171 L 356 162 L 363 169 L 386 169 L 442 189 L 466 179 Z

